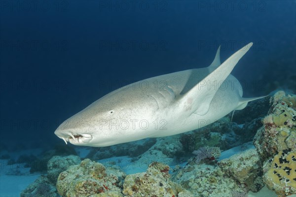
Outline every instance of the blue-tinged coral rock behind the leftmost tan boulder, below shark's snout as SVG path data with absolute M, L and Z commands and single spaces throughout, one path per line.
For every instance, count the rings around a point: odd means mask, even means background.
M 48 180 L 55 185 L 58 176 L 61 172 L 67 170 L 71 165 L 76 165 L 80 163 L 80 158 L 78 156 L 70 155 L 67 157 L 54 156 L 49 159 L 47 163 L 47 177 Z

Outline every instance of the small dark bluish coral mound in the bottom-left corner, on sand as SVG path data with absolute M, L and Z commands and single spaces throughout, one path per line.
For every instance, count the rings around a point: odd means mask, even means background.
M 42 175 L 22 191 L 20 197 L 58 197 L 58 194 L 47 177 Z

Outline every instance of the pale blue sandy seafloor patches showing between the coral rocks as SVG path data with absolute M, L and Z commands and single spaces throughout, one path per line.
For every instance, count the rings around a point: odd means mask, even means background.
M 249 149 L 255 148 L 253 145 L 250 145 L 248 147 Z M 234 154 L 240 153 L 242 150 L 241 146 L 234 147 L 232 149 L 229 149 L 227 151 L 224 151 L 221 153 L 221 157 L 219 160 L 222 160 L 224 158 L 229 158 Z M 76 148 L 76 151 L 78 153 L 78 156 L 80 158 L 85 157 L 89 149 L 88 148 Z M 18 154 L 26 154 L 30 153 L 33 155 L 40 154 L 41 150 L 27 150 L 26 152 L 21 152 Z M 12 158 L 17 158 L 17 154 L 10 155 Z M 131 158 L 129 157 L 113 157 L 113 158 L 107 158 L 99 160 L 99 162 L 106 164 L 110 161 L 116 161 L 118 159 L 130 161 Z M 124 162 L 123 162 L 124 163 Z M 126 162 L 128 163 L 128 162 Z M 180 166 L 185 166 L 185 163 L 179 163 Z M 173 166 L 170 166 L 171 169 L 174 168 Z M 132 165 L 121 165 L 122 171 L 124 171 L 126 174 L 134 174 L 139 172 L 145 172 L 146 169 L 144 168 L 134 168 Z M 22 175 L 7 175 L 9 172 L 13 172 L 15 170 L 19 170 L 19 174 Z M 25 168 L 24 164 L 13 164 L 13 165 L 7 165 L 7 160 L 0 159 L 0 197 L 19 197 L 22 190 L 25 190 L 31 183 L 33 183 L 41 174 L 39 173 L 33 173 L 30 174 L 30 168 Z M 277 195 L 268 190 L 266 187 L 261 189 L 258 193 L 249 192 L 248 197 L 277 197 Z M 290 197 L 296 197 L 296 195 L 292 195 Z

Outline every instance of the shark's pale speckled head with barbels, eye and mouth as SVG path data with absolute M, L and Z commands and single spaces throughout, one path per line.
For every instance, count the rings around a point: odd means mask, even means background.
M 157 104 L 139 91 L 144 90 L 115 90 L 65 120 L 54 133 L 66 144 L 94 147 L 146 138 L 151 133 L 146 132 L 146 124 L 152 127 L 147 121 Z

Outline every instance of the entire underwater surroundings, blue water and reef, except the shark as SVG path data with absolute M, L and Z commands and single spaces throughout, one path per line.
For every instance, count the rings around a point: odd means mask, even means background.
M 54 135 L 127 84 L 221 62 L 244 97 L 194 131 L 110 147 Z M 296 1 L 1 0 L 0 197 L 296 196 Z

